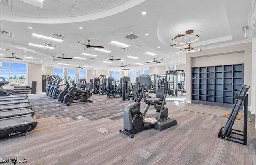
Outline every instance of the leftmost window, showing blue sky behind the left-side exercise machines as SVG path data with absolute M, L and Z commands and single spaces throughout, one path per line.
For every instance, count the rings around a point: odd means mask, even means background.
M 10 81 L 9 85 L 26 85 L 27 84 L 27 65 L 22 63 L 2 62 L 0 76 Z

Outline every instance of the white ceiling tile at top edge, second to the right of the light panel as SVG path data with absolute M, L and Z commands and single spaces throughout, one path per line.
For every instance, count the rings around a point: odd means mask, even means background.
M 98 10 L 101 9 L 99 5 L 91 2 L 90 0 L 78 0 L 74 5 L 74 8 L 84 11 L 87 14 L 98 12 Z

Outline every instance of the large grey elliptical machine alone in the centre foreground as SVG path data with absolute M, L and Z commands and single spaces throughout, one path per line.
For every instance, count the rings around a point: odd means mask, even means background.
M 139 76 L 140 87 L 142 92 L 137 102 L 133 102 L 124 108 L 124 130 L 119 130 L 130 138 L 133 134 L 145 129 L 154 128 L 156 130 L 165 130 L 177 124 L 177 121 L 168 117 L 168 108 L 164 107 L 165 98 L 167 94 L 167 80 L 163 78 L 164 87 L 158 88 L 156 97 L 158 100 L 146 100 L 146 91 L 150 89 L 152 81 L 149 75 Z M 143 98 L 144 102 L 148 105 L 146 110 L 140 112 L 140 100 Z M 154 106 L 156 114 L 154 118 L 144 118 L 150 106 Z

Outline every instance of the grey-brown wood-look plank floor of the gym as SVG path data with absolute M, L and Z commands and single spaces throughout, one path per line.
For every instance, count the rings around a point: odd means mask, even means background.
M 24 137 L 0 141 L 0 157 L 17 155 L 28 165 L 256 165 L 255 116 L 248 122 L 248 145 L 218 138 L 227 118 L 180 110 L 184 98 L 167 97 L 169 116 L 178 122 L 163 131 L 144 130 L 131 139 L 122 111 L 130 100 L 92 96 L 93 103 L 63 105 L 44 94 L 29 95 L 38 126 Z M 146 105 L 142 103 L 141 110 Z M 154 114 L 150 108 L 149 114 Z M 242 130 L 242 120 L 234 128 Z M 98 130 L 108 130 L 101 133 Z M 148 159 L 138 148 L 152 153 Z

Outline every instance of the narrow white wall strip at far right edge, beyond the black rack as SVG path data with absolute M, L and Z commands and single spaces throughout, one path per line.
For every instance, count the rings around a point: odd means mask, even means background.
M 251 94 L 252 94 L 252 104 L 251 104 L 251 113 L 256 114 L 256 38 L 252 39 L 252 85 L 251 85 Z M 256 122 L 255 122 L 256 128 Z

